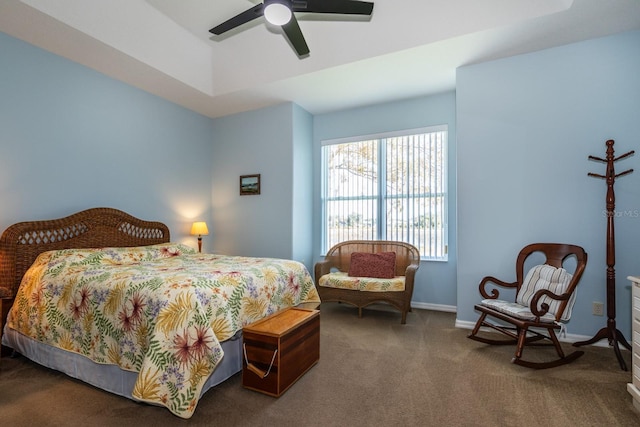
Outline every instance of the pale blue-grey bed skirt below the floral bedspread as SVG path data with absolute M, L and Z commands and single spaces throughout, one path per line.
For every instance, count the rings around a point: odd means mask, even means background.
M 85 356 L 42 344 L 8 327 L 4 328 L 2 344 L 42 366 L 110 393 L 136 400 L 131 396 L 138 377 L 136 372 L 125 371 L 115 365 L 95 363 Z M 205 383 L 200 396 L 211 387 L 242 371 L 242 331 L 224 341 L 222 349 L 224 357 Z

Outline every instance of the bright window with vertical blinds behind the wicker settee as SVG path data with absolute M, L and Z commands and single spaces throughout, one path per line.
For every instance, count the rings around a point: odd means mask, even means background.
M 447 259 L 447 126 L 324 141 L 322 251 L 400 240 Z

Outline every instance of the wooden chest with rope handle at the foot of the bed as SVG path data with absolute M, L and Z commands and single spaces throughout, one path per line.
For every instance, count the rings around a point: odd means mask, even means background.
M 320 312 L 291 307 L 242 329 L 242 385 L 280 396 L 320 359 Z

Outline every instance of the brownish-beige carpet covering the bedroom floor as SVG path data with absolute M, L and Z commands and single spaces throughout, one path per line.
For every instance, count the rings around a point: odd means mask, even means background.
M 509 362 L 512 347 L 471 341 L 454 322 L 414 310 L 400 325 L 390 310 L 359 319 L 348 305 L 325 304 L 320 362 L 282 397 L 244 389 L 238 374 L 205 394 L 189 420 L 3 358 L 0 425 L 640 426 L 631 373 L 611 349 L 586 347 L 570 365 L 535 371 Z

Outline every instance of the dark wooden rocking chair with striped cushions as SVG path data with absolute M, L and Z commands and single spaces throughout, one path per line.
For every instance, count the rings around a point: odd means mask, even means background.
M 541 252 L 546 257 L 544 264 L 536 265 L 524 276 L 526 259 L 533 253 Z M 573 274 L 563 268 L 564 261 L 575 257 Z M 532 258 L 533 259 L 533 258 Z M 480 294 L 484 300 L 475 305 L 481 315 L 468 338 L 487 344 L 516 344 L 512 363 L 534 369 L 552 368 L 572 362 L 584 354 L 574 351 L 565 356 L 555 330 L 563 330 L 564 323 L 571 317 L 575 301 L 575 290 L 587 264 L 587 253 L 580 246 L 560 243 L 534 243 L 524 247 L 516 261 L 516 281 L 503 282 L 495 277 L 485 277 L 480 282 Z M 515 288 L 515 302 L 499 300 L 498 289 L 492 286 L 487 292 L 487 284 L 494 283 L 503 288 Z M 491 316 L 506 324 L 487 320 Z M 501 332 L 510 339 L 492 339 L 479 336 L 481 327 Z M 532 330 L 531 328 L 535 328 Z M 546 332 L 546 333 L 545 333 Z M 550 340 L 538 342 L 540 340 Z M 526 345 L 553 345 L 558 358 L 548 362 L 533 362 L 522 359 Z

